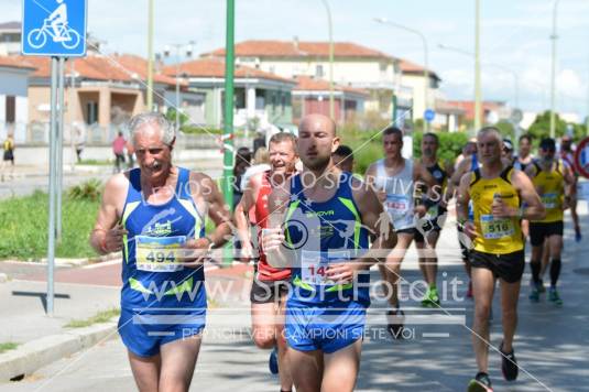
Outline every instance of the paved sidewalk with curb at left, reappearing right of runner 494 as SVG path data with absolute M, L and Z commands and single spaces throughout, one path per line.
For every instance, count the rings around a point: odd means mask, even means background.
M 120 261 L 81 268 L 61 268 L 55 272 L 54 315 L 46 315 L 46 275 L 44 265 L 15 266 L 0 262 L 1 344 L 18 344 L 17 349 L 0 353 L 0 382 L 70 356 L 105 339 L 118 338 L 117 319 L 83 328 L 66 327 L 72 320 L 87 320 L 100 312 L 120 306 Z M 206 284 L 216 292 L 209 308 L 247 307 L 252 275 L 250 265 L 228 269 L 207 268 Z M 222 298 L 219 296 L 221 293 Z

